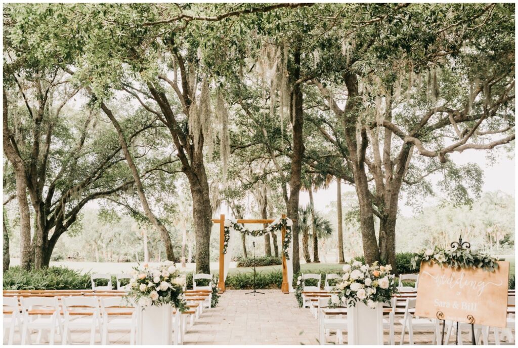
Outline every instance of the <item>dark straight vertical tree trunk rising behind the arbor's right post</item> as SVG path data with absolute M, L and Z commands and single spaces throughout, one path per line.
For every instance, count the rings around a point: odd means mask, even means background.
M 300 78 L 300 50 L 294 53 L 293 82 Z M 291 163 L 290 199 L 287 206 L 287 214 L 293 220 L 293 273 L 300 271 L 300 252 L 298 243 L 298 202 L 300 193 L 300 172 L 302 158 L 304 156 L 303 140 L 303 94 L 299 83 L 294 83 L 290 105 L 293 127 L 293 155 Z

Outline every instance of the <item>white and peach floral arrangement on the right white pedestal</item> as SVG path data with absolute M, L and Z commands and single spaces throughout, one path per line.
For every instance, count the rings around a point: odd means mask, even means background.
M 369 308 L 376 308 L 377 303 L 390 303 L 396 293 L 396 281 L 391 273 L 392 267 L 371 266 L 353 261 L 343 266 L 342 281 L 336 284 L 329 299 L 329 307 L 354 307 L 356 302 L 363 302 Z

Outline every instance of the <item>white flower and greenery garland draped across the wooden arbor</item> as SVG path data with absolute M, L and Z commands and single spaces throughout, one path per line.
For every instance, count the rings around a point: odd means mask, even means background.
M 292 226 L 293 226 L 293 221 L 291 219 L 278 218 L 266 228 L 263 228 L 261 230 L 249 230 L 246 227 L 244 227 L 243 224 L 238 224 L 236 219 L 233 219 L 233 220 L 225 219 L 223 254 L 226 254 L 226 249 L 228 247 L 228 241 L 230 240 L 231 229 L 233 229 L 234 231 L 238 231 L 238 232 L 241 232 L 244 234 L 254 236 L 254 237 L 260 237 L 269 232 L 281 231 L 282 227 L 285 227 L 286 234 L 284 235 L 284 240 L 282 241 L 282 253 L 286 257 L 286 259 L 289 260 L 290 255 L 289 255 L 288 251 L 290 249 L 290 243 L 292 240 Z

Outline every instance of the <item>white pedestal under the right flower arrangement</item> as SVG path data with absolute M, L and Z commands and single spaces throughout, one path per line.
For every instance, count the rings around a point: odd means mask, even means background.
M 368 308 L 363 302 L 347 309 L 348 344 L 383 345 L 383 305 Z

